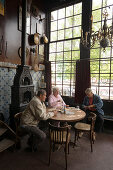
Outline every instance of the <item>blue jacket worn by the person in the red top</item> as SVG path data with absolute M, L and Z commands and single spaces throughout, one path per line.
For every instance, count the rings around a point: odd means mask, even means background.
M 101 100 L 100 96 L 97 94 L 93 95 L 93 105 L 95 105 L 95 109 L 98 113 L 104 115 L 104 111 L 101 109 L 103 106 L 103 101 Z M 85 96 L 84 101 L 83 101 L 83 108 L 84 106 L 89 106 L 89 97 Z

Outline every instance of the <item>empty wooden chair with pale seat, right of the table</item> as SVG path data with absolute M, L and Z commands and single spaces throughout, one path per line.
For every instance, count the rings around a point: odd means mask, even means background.
M 90 144 L 91 144 L 91 152 L 93 152 L 93 143 L 95 141 L 94 127 L 95 127 L 95 121 L 96 121 L 96 114 L 93 113 L 93 112 L 90 112 L 90 116 L 88 117 L 88 120 L 89 120 L 90 124 L 82 123 L 82 122 L 78 122 L 78 123 L 75 124 L 75 126 L 74 126 L 74 128 L 75 128 L 74 146 L 77 143 L 80 132 L 89 133 Z

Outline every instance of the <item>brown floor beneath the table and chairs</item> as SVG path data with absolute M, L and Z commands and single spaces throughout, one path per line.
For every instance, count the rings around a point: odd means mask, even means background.
M 74 133 L 72 132 L 72 140 Z M 113 170 L 113 133 L 97 134 L 93 153 L 90 152 L 88 138 L 79 139 L 78 147 L 70 145 L 68 170 Z M 42 143 L 37 152 L 30 152 L 26 138 L 21 150 L 0 153 L 1 170 L 65 170 L 63 148 L 52 154 L 48 167 L 49 141 Z

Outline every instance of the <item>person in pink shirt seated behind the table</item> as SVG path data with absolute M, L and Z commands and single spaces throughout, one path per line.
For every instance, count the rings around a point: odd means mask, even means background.
M 59 88 L 54 87 L 53 93 L 49 96 L 48 106 L 56 109 L 61 109 L 63 106 L 66 106 L 62 97 L 59 95 Z

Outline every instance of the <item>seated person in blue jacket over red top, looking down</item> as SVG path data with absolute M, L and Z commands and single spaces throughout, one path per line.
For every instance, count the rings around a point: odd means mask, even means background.
M 104 111 L 102 110 L 103 101 L 101 100 L 100 96 L 98 96 L 97 94 L 93 94 L 91 88 L 87 88 L 85 90 L 85 93 L 86 96 L 84 98 L 82 106 L 86 112 L 86 121 L 90 112 L 94 112 L 97 115 L 95 122 L 95 131 L 101 132 L 104 123 Z

